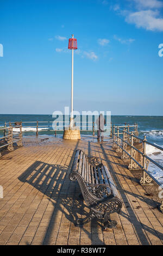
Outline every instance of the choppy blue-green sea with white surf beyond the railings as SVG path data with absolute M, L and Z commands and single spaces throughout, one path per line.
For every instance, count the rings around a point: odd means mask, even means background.
M 149 142 L 159 145 L 163 148 L 163 116 L 144 116 L 144 115 L 111 115 L 111 117 L 106 117 L 106 125 L 109 127 L 110 121 L 115 125 L 124 125 L 126 124 L 137 124 L 139 137 L 143 138 L 146 135 L 146 138 Z M 38 115 L 38 114 L 0 114 L 0 127 L 4 127 L 5 122 L 28 122 L 23 123 L 23 136 L 33 136 L 36 132 L 36 121 L 39 121 L 39 136 L 54 136 L 54 129 L 57 130 L 57 136 L 62 136 L 63 126 L 68 125 L 68 116 L 56 116 L 52 115 Z M 81 135 L 89 139 L 92 132 L 92 121 L 96 121 L 96 117 L 85 116 L 85 117 L 76 117 L 76 126 L 79 126 L 81 130 Z M 83 121 L 84 126 L 80 125 L 80 121 Z M 47 123 L 45 123 L 47 122 Z M 7 124 L 8 125 L 8 124 Z M 109 136 L 110 129 L 104 135 L 105 137 Z M 2 132 L 0 131 L 0 137 Z M 158 162 L 163 166 L 163 150 L 154 148 L 152 145 L 147 145 L 147 155 L 153 160 Z M 149 164 L 149 172 L 157 179 L 160 184 L 163 186 L 163 170 L 159 167 L 156 167 L 153 163 Z

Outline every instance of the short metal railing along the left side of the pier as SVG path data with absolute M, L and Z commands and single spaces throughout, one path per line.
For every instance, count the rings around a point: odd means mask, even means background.
M 18 131 L 14 131 L 14 129 L 17 129 Z M 22 146 L 22 123 L 9 123 L 9 126 L 7 127 L 7 123 L 5 123 L 5 126 L 0 129 L 0 131 L 3 132 L 3 136 L 0 137 L 0 150 L 7 148 L 9 151 L 14 150 L 14 143 L 16 143 L 18 146 Z M 2 156 L 0 151 L 0 156 Z

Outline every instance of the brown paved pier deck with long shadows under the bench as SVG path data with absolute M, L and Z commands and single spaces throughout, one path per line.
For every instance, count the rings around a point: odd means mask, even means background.
M 112 140 L 24 137 L 23 147 L 0 159 L 0 245 L 162 245 L 163 216 L 155 202 L 112 150 Z M 102 230 L 97 220 L 74 227 L 89 209 L 68 178 L 74 151 L 101 157 L 123 200 L 117 228 Z

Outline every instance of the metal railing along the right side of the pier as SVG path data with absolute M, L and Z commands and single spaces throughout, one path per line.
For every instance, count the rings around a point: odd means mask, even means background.
M 151 157 L 149 157 L 146 154 L 146 145 L 151 145 L 152 147 L 159 149 L 161 151 L 163 151 L 163 148 L 160 147 L 159 145 L 147 141 L 146 136 L 140 138 L 139 132 L 137 131 L 137 127 L 136 129 L 134 128 L 134 131 L 130 131 L 131 127 L 133 126 L 129 125 L 128 127 L 114 127 L 113 148 L 117 146 L 116 152 L 122 154 L 121 159 L 130 159 L 130 163 L 128 166 L 130 170 L 141 169 L 143 171 L 143 175 L 140 179 L 141 185 L 153 185 L 152 181 L 154 181 L 161 188 L 162 184 L 157 179 L 155 179 L 151 173 L 149 173 L 148 167 L 150 162 L 152 162 L 154 166 L 159 167 L 161 170 L 163 170 L 163 166 L 161 166 L 161 164 L 151 159 Z M 141 149 L 137 149 L 136 144 L 141 144 Z M 138 157 L 136 159 L 136 153 L 137 155 L 140 156 L 139 160 Z M 160 210 L 163 212 L 163 201 L 160 205 Z

